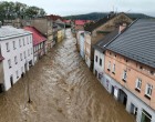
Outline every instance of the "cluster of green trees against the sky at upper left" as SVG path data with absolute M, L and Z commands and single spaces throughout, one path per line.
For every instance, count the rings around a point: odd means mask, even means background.
M 29 7 L 21 2 L 0 2 L 0 21 L 4 19 L 16 19 L 16 18 L 35 18 L 45 16 L 45 11 L 42 8 Z

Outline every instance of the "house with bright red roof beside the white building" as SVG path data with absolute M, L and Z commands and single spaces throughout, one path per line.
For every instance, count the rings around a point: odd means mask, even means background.
M 32 32 L 33 38 L 33 55 L 37 62 L 43 54 L 46 53 L 45 41 L 46 38 L 41 34 L 34 27 L 24 27 L 24 30 Z

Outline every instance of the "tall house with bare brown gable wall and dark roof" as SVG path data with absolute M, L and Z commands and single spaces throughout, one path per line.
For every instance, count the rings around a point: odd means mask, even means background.
M 85 62 L 91 70 L 93 69 L 94 63 L 93 45 L 106 34 L 115 30 L 122 22 L 126 22 L 128 24 L 132 22 L 132 19 L 130 19 L 125 13 L 110 13 L 107 17 L 84 27 Z

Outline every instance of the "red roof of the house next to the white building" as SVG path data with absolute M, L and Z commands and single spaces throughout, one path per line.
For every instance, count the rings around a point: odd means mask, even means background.
M 46 38 L 43 37 L 42 33 L 34 27 L 24 27 L 23 29 L 33 33 L 33 45 L 37 45 L 46 40 Z

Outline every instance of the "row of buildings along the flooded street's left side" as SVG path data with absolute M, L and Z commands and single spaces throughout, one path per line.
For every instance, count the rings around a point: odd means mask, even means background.
M 64 39 L 60 17 L 4 20 L 0 24 L 0 92 L 8 91 L 38 60 Z

